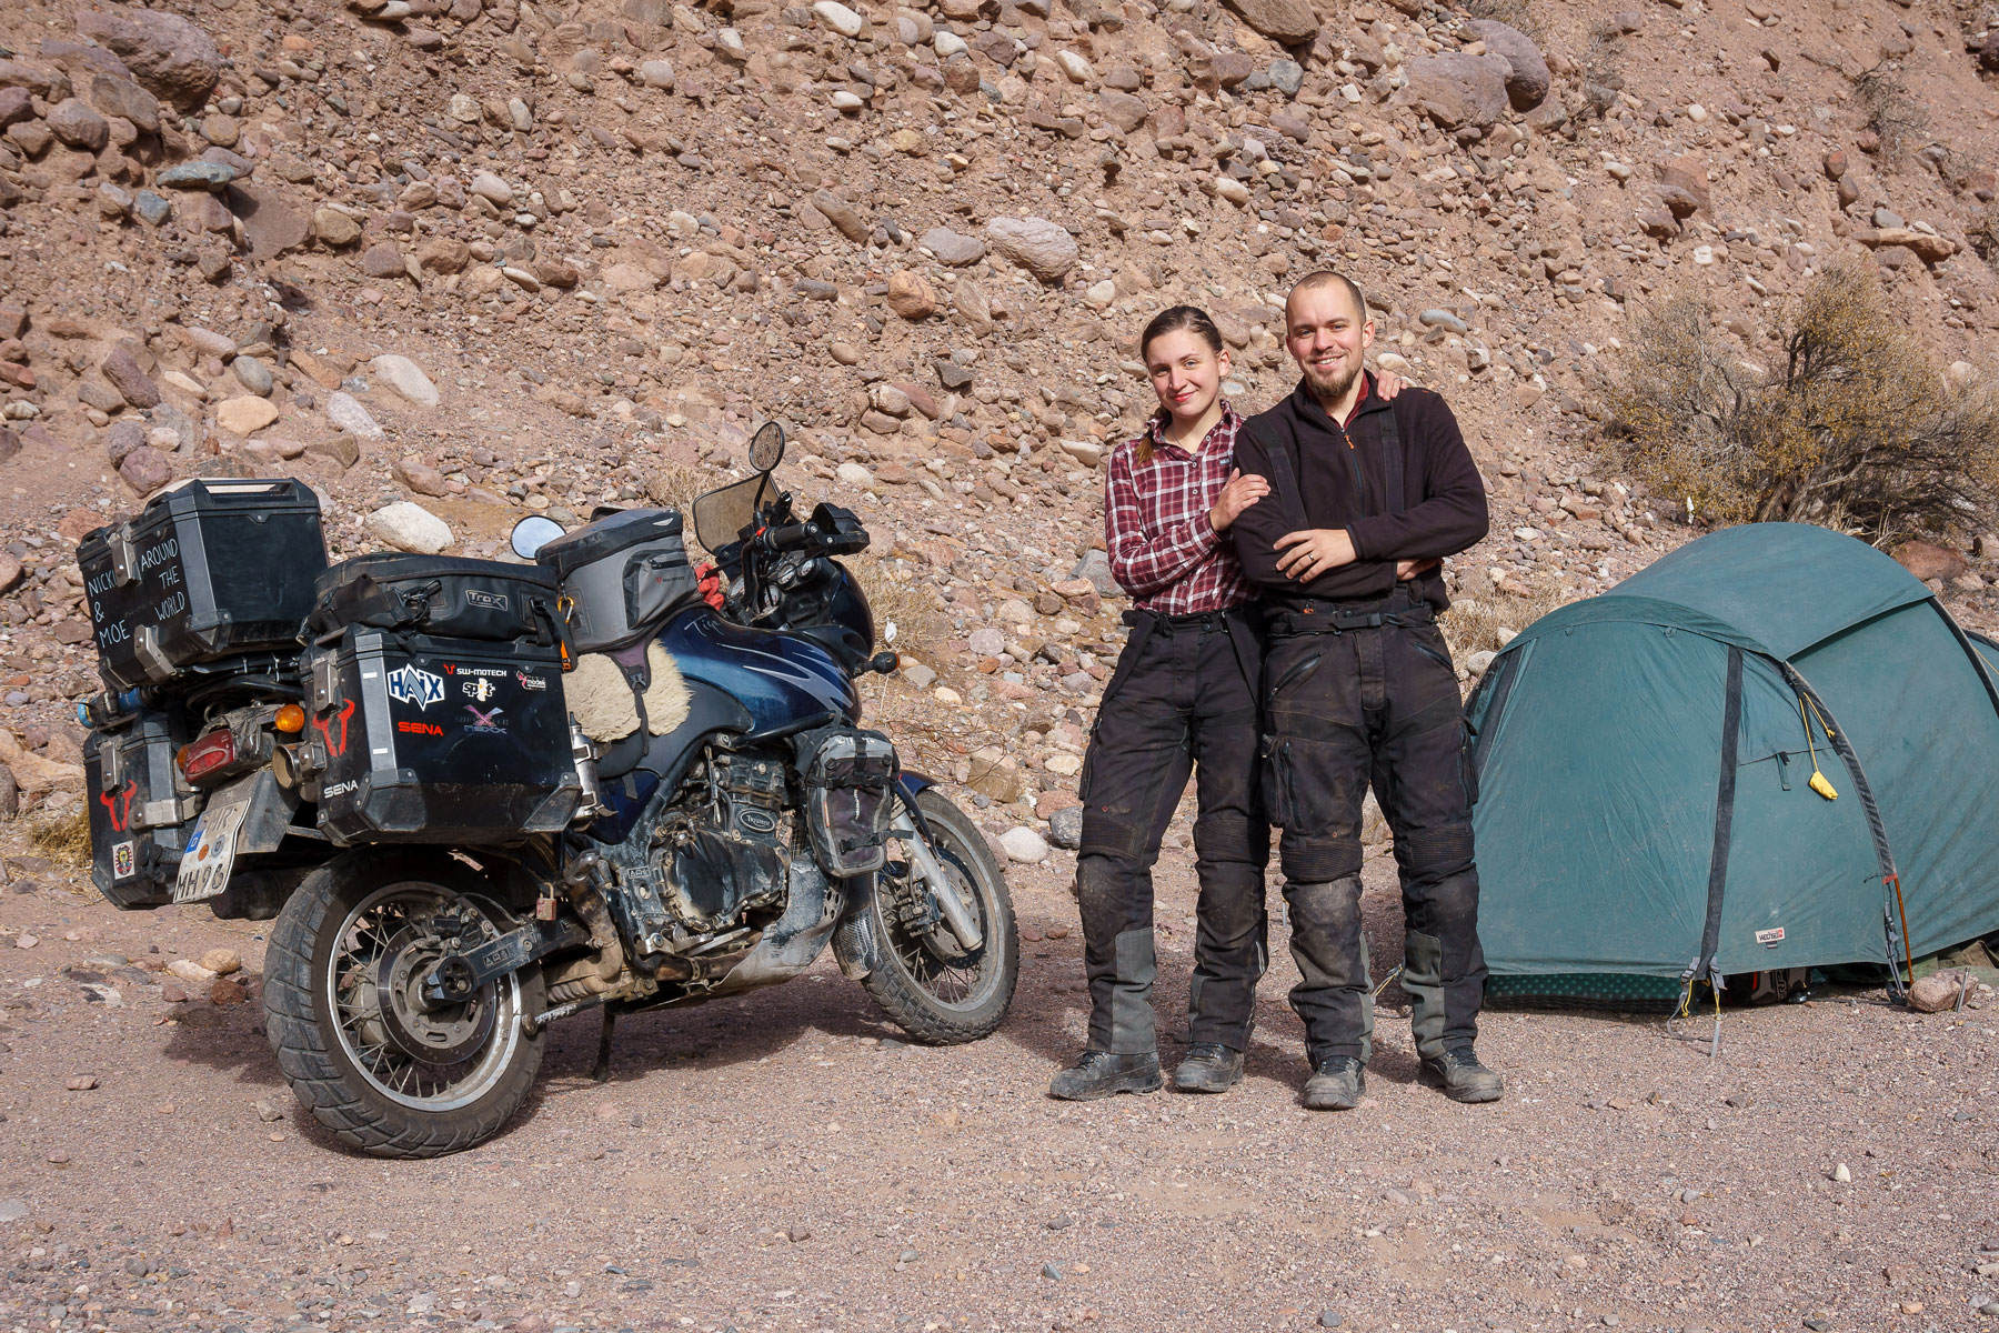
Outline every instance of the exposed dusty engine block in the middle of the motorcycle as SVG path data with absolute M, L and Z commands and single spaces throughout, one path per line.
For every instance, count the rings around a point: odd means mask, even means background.
M 784 763 L 740 753 L 710 757 L 712 811 L 670 815 L 654 845 L 662 905 L 686 935 L 708 935 L 784 901 Z

